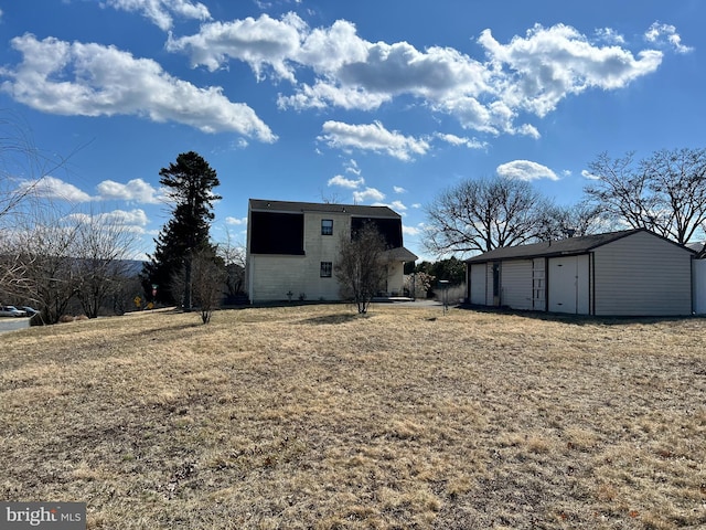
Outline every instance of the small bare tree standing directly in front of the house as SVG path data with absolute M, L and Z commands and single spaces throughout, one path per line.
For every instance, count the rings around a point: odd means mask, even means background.
M 365 223 L 354 234 L 343 234 L 335 277 L 341 295 L 353 300 L 359 314 L 367 312 L 375 294 L 387 275 L 385 263 L 385 237 L 373 223 Z

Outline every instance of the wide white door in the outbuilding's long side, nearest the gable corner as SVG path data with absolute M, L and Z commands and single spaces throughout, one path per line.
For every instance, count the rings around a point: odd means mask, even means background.
M 571 315 L 590 314 L 589 256 L 563 256 L 549 258 L 548 309 Z

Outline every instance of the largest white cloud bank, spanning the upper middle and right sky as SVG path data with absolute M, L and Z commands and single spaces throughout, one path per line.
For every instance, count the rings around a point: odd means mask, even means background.
M 664 35 L 677 51 L 687 50 L 673 26 L 654 26 L 649 35 Z M 539 137 L 536 126 L 517 124 L 521 115 L 544 117 L 567 96 L 589 88 L 623 88 L 653 73 L 663 59 L 657 50 L 633 54 L 610 28 L 589 38 L 569 25 L 536 24 L 506 44 L 485 30 L 478 43 L 484 49 L 480 61 L 452 47 L 370 42 L 345 20 L 311 29 L 288 13 L 278 20 L 263 14 L 203 24 L 195 35 L 170 39 L 168 49 L 188 53 L 194 65 L 210 70 L 235 60 L 249 64 L 260 80 L 271 74 L 288 81 L 292 89 L 280 92 L 280 108 L 375 110 L 411 96 L 456 117 L 464 128 L 533 138 Z M 474 139 L 457 145 L 484 146 Z

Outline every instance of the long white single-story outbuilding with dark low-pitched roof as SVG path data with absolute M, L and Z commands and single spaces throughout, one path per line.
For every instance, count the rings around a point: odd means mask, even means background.
M 467 261 L 468 296 L 573 315 L 691 315 L 700 304 L 695 254 L 643 229 L 496 248 Z

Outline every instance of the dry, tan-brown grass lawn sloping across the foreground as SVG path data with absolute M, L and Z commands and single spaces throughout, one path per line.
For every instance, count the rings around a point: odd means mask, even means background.
M 0 500 L 90 529 L 706 527 L 706 320 L 345 306 L 0 336 Z

